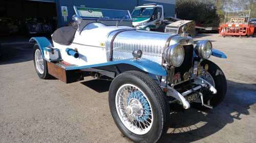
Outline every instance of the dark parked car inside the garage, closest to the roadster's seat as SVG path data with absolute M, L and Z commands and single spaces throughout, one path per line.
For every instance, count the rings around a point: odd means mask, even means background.
M 25 25 L 26 30 L 29 34 L 51 34 L 53 32 L 52 25 L 41 17 L 27 18 L 25 21 Z

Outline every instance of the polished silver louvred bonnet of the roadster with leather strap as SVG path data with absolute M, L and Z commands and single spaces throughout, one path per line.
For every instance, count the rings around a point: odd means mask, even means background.
M 172 37 L 170 45 L 175 43 L 187 45 L 193 42 L 192 39 L 174 34 L 132 29 L 121 33 L 118 33 L 119 31 L 120 30 L 111 32 L 106 40 L 106 55 L 107 58 L 109 58 L 111 41 L 115 38 L 113 41 L 113 61 L 133 58 L 133 50 L 140 49 L 143 52 L 142 58 L 162 64 L 162 53 L 169 37 Z M 116 33 L 118 33 L 118 35 L 115 37 Z M 185 41 L 189 42 L 187 43 Z

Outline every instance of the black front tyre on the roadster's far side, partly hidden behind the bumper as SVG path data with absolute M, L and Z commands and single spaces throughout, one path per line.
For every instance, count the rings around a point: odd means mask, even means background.
M 207 104 L 209 101 L 211 106 L 216 107 L 223 101 L 226 96 L 227 81 L 224 73 L 215 63 L 208 60 L 204 60 L 201 62 L 201 66 L 203 67 L 206 64 L 208 65 L 207 73 L 209 75 L 208 78 L 205 78 L 205 80 L 207 80 L 209 83 L 211 83 L 211 80 L 213 80 L 213 83 L 211 84 L 214 85 L 214 87 L 216 88 L 217 94 L 212 94 L 209 91 L 203 92 L 204 104 Z M 209 109 L 202 106 L 201 103 L 192 103 L 192 107 L 198 108 L 200 110 Z

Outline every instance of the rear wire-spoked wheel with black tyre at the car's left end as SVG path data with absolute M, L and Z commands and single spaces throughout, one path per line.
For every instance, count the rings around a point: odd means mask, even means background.
M 48 73 L 47 62 L 42 58 L 42 51 L 37 44 L 34 45 L 33 49 L 33 61 L 37 75 L 41 79 L 48 79 L 50 75 Z

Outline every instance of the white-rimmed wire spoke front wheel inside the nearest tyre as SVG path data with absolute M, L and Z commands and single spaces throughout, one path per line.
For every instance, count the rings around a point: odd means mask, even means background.
M 146 134 L 153 124 L 153 111 L 146 95 L 133 84 L 122 85 L 116 93 L 116 110 L 124 126 L 135 134 Z

